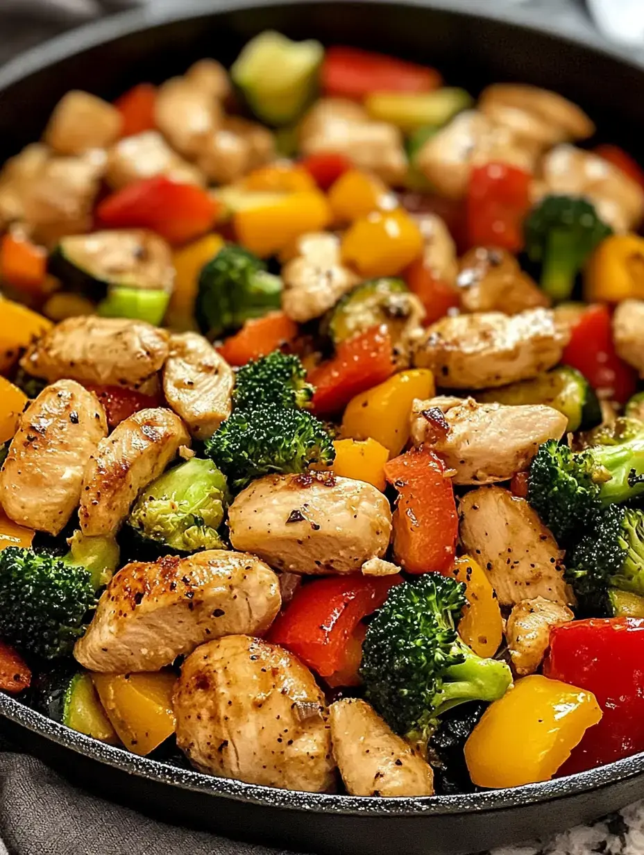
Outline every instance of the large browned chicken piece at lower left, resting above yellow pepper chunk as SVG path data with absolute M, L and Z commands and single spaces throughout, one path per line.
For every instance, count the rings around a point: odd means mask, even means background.
M 74 657 L 91 671 L 157 671 L 204 641 L 263 633 L 280 605 L 277 575 L 254 555 L 212 549 L 137 561 L 109 582 Z

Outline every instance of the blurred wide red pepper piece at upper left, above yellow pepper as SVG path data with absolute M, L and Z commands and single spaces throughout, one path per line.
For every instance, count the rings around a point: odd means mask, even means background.
M 171 244 L 186 244 L 214 225 L 218 209 L 201 187 L 158 175 L 111 193 L 97 217 L 109 228 L 150 228 Z

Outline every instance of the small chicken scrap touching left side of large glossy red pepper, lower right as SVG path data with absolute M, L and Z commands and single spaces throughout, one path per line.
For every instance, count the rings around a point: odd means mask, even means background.
M 547 651 L 550 628 L 574 619 L 567 606 L 543 597 L 517 603 L 505 626 L 511 663 L 517 675 L 534 674 Z

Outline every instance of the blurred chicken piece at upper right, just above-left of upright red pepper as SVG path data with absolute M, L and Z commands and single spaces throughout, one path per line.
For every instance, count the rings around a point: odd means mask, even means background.
M 464 197 L 472 168 L 491 161 L 510 163 L 531 173 L 539 149 L 517 139 L 476 110 L 464 110 L 430 137 L 416 156 L 417 167 L 441 196 Z

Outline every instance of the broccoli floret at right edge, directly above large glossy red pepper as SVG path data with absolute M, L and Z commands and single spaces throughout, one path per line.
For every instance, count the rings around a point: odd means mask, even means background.
M 644 511 L 612 504 L 570 550 L 566 577 L 584 614 L 611 613 L 610 588 L 644 594 Z

